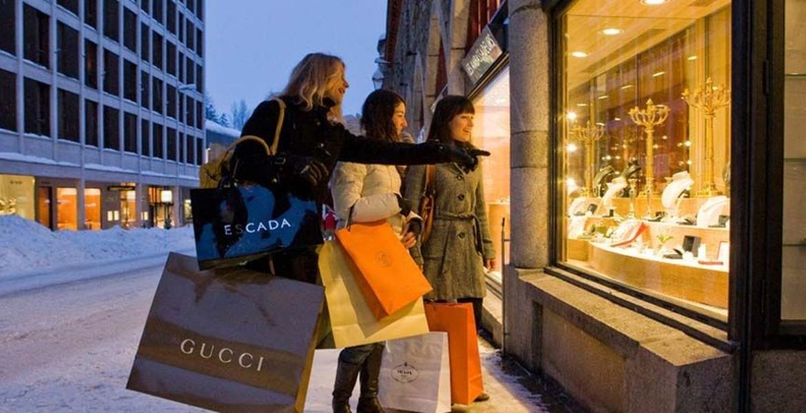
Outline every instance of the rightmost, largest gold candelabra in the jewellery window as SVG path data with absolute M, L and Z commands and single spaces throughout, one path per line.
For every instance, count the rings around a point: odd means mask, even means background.
M 730 105 L 730 89 L 725 89 L 725 85 L 714 86 L 710 77 L 705 81 L 705 86 L 700 86 L 689 92 L 683 91 L 683 100 L 694 108 L 702 110 L 705 116 L 705 176 L 701 195 L 718 195 L 717 184 L 713 177 L 713 118 L 717 114 L 717 109 Z

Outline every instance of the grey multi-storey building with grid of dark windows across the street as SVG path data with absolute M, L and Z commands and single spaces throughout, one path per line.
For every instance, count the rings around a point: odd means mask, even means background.
M 0 214 L 183 225 L 204 157 L 204 1 L 0 2 Z

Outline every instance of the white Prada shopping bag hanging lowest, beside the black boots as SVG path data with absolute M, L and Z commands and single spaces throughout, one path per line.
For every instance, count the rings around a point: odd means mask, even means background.
M 378 401 L 386 409 L 451 411 L 447 332 L 387 341 L 378 377 Z

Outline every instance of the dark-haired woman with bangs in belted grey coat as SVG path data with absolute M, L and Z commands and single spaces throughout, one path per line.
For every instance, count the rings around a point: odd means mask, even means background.
M 438 101 L 428 131 L 428 140 L 436 140 L 462 149 L 472 149 L 471 131 L 475 109 L 463 96 L 447 96 Z M 410 251 L 422 265 L 423 273 L 434 287 L 426 299 L 472 303 L 476 326 L 480 326 L 482 299 L 487 294 L 484 269 L 495 268 L 481 167 L 464 168 L 456 163 L 434 165 L 434 224 L 426 242 Z M 405 198 L 419 200 L 424 191 L 426 166 L 409 167 L 405 180 Z M 419 205 L 415 213 L 420 213 Z M 486 394 L 477 401 L 488 399 Z

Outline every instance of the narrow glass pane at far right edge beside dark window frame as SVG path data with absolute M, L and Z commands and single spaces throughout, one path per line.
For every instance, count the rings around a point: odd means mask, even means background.
M 806 320 L 806 1 L 787 0 L 785 16 L 781 317 Z

